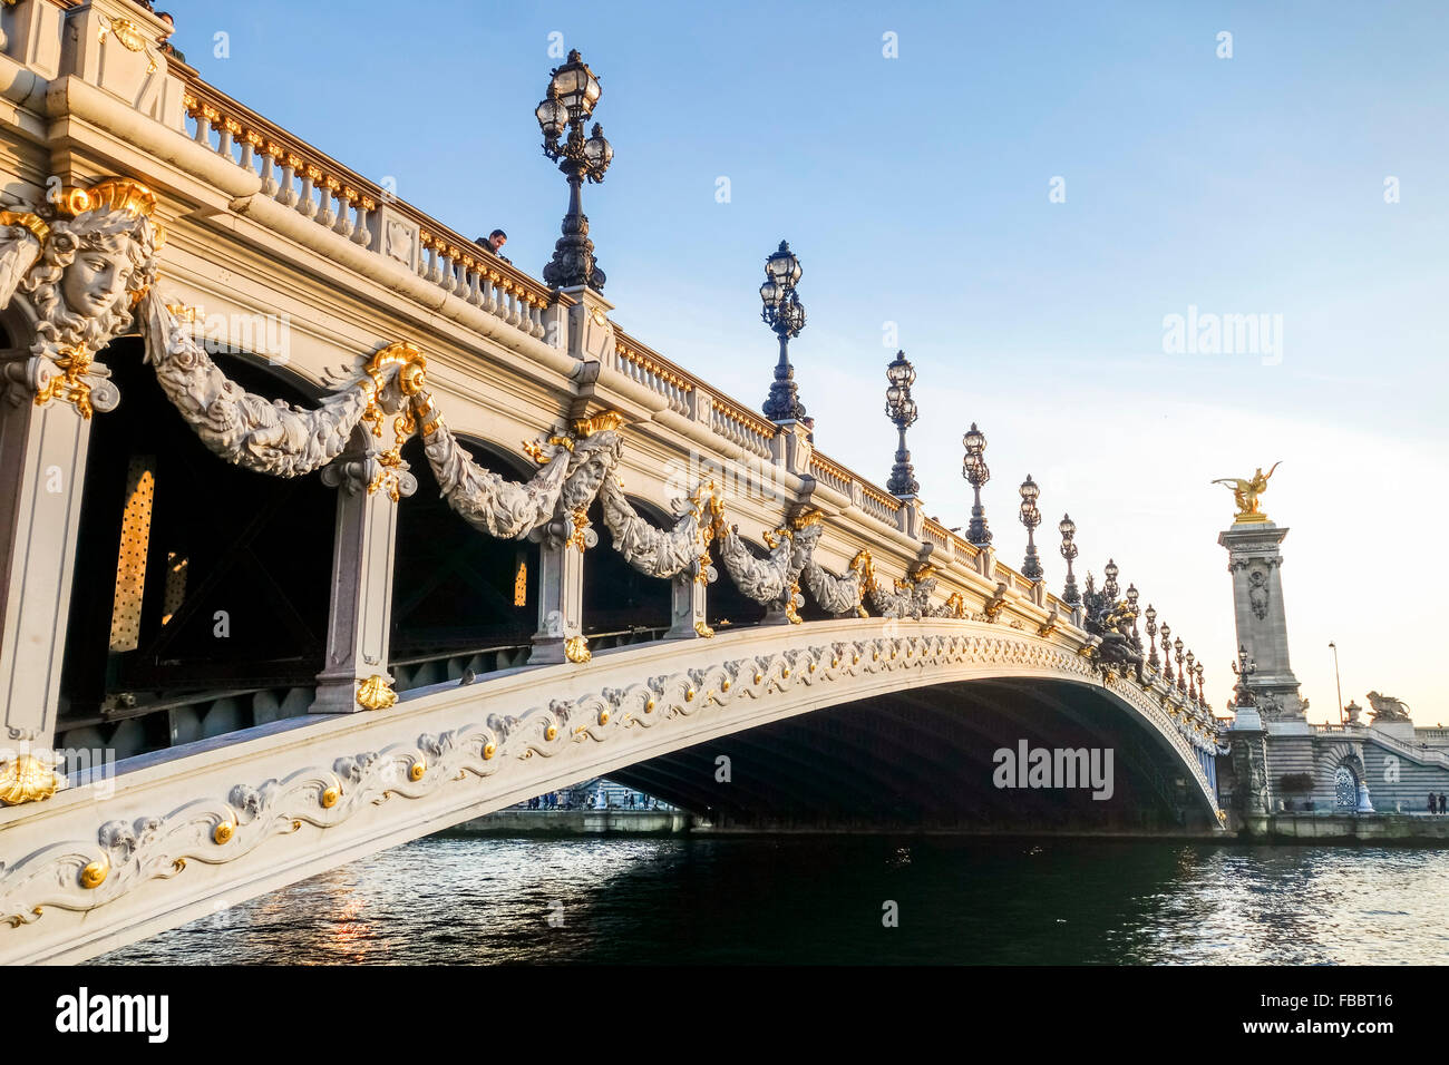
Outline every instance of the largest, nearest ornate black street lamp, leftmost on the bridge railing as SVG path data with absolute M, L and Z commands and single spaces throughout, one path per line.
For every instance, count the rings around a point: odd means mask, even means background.
M 594 262 L 594 242 L 588 239 L 582 199 L 584 181 L 603 181 L 614 158 L 601 126 L 596 123 L 590 136 L 584 138 L 584 123 L 598 103 L 598 78 L 574 49 L 568 62 L 551 71 L 548 96 L 533 110 L 543 130 L 543 155 L 556 162 L 568 178 L 564 236 L 554 245 L 554 258 L 543 267 L 543 281 L 554 288 L 585 285 L 603 291 L 604 287 L 604 271 Z

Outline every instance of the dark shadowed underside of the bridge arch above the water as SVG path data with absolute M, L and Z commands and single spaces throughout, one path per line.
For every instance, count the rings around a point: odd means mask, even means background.
M 1001 748 L 1111 749 L 1113 793 L 997 788 Z M 720 756 L 726 756 L 727 781 Z M 739 830 L 1197 832 L 1175 753 L 1097 690 L 980 680 L 877 696 L 639 762 L 610 774 Z

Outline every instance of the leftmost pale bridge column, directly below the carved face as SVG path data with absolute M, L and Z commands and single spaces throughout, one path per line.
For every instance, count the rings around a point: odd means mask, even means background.
M 0 359 L 10 380 L 6 390 L 0 378 L 0 740 L 48 749 L 59 707 L 91 422 L 64 400 L 35 406 L 35 391 L 19 380 L 29 352 Z M 120 398 L 103 384 L 91 391 L 96 410 L 110 410 Z M 113 590 L 90 591 L 104 604 Z

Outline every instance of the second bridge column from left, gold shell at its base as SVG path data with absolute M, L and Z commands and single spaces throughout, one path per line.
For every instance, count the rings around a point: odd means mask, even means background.
M 377 451 L 367 427 L 355 432 L 361 445 L 322 471 L 323 484 L 338 490 L 338 525 L 327 661 L 317 674 L 314 714 L 381 710 L 397 701 L 387 671 L 397 500 L 412 496 L 417 481 L 396 454 Z

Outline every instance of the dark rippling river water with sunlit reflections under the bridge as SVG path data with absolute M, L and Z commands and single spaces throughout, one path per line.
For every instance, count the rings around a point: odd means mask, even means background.
M 99 961 L 1445 964 L 1449 851 L 435 836 Z

